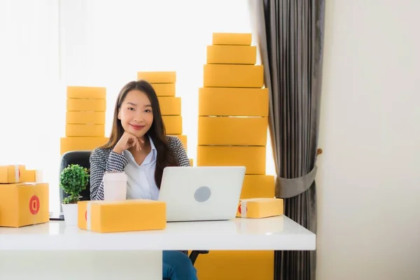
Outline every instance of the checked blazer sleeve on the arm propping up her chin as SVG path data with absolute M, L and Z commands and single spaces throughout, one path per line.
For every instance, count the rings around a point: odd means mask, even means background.
M 104 149 L 94 149 L 90 155 L 90 199 L 104 200 L 104 174 L 111 171 L 123 171 L 128 159 L 125 155 Z

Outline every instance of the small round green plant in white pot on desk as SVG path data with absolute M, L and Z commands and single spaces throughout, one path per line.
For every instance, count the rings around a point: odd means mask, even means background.
M 66 225 L 77 225 L 80 193 L 86 189 L 89 183 L 89 172 L 80 165 L 69 165 L 59 175 L 59 186 L 68 194 L 62 201 L 64 221 Z

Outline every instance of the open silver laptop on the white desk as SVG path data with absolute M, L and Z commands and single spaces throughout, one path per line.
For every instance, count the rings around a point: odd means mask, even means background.
M 245 167 L 166 167 L 159 201 L 167 221 L 220 221 L 235 218 Z

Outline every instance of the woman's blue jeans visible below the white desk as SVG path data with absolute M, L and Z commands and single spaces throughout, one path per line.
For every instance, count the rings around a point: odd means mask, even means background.
M 197 280 L 197 270 L 188 255 L 179 251 L 163 251 L 163 278 Z

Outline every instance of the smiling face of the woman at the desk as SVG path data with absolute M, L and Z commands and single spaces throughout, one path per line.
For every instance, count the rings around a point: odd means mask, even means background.
M 153 124 L 153 108 L 146 93 L 131 90 L 125 96 L 118 119 L 126 132 L 142 138 Z

